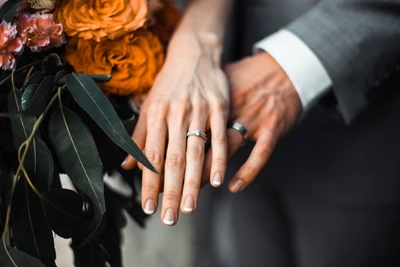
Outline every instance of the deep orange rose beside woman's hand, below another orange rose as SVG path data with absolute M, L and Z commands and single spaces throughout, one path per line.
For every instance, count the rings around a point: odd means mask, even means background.
M 111 80 L 99 86 L 121 96 L 146 93 L 164 61 L 160 41 L 145 29 L 100 43 L 74 37 L 65 56 L 77 72 L 110 74 Z

